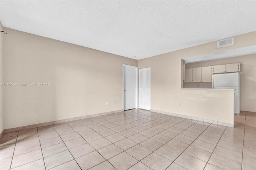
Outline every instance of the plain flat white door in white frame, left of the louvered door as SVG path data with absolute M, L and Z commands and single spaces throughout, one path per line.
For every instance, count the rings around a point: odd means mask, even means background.
M 123 65 L 123 110 L 137 109 L 138 67 Z

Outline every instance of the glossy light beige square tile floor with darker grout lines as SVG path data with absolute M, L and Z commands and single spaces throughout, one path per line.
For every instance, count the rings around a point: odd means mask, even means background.
M 256 115 L 235 128 L 144 110 L 4 134 L 1 170 L 256 170 Z

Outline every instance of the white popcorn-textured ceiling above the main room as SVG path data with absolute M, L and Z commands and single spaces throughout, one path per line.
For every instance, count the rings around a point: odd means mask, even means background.
M 7 28 L 143 59 L 256 30 L 256 1 L 0 1 Z

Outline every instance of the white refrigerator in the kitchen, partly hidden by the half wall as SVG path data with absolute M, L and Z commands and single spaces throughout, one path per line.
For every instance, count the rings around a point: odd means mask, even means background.
M 234 114 L 240 113 L 240 76 L 239 73 L 223 73 L 212 75 L 212 89 L 235 89 Z

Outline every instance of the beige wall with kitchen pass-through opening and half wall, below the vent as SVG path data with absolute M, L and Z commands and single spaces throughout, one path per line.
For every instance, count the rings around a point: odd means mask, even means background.
M 210 118 L 224 123 L 234 122 L 233 91 L 180 89 L 181 59 L 255 45 L 255 37 L 256 32 L 251 32 L 235 36 L 235 45 L 232 46 L 217 48 L 216 42 L 211 42 L 139 60 L 139 68 L 151 67 L 151 109 L 204 119 Z M 180 107 L 177 103 L 180 103 Z

